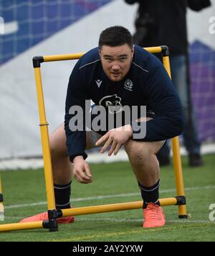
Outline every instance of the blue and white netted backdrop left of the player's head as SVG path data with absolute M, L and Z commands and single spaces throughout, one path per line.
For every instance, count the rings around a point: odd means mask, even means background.
M 134 13 L 135 6 L 123 0 L 0 0 L 5 22 L 0 35 L 0 159 L 42 155 L 32 57 L 85 52 L 97 46 L 102 29 L 115 24 L 133 32 Z M 49 132 L 64 120 L 74 65 L 42 64 Z

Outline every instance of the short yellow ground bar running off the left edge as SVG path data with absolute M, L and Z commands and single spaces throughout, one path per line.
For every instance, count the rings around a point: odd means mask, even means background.
M 1 224 L 0 232 L 24 230 L 24 229 L 42 229 L 42 221 Z

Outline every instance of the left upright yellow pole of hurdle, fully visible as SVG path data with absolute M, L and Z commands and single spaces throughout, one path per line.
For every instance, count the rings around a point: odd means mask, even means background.
M 46 181 L 47 189 L 47 205 L 48 210 L 55 209 L 55 200 L 54 200 L 54 184 L 52 176 L 52 160 L 49 147 L 49 130 L 48 123 L 46 120 L 46 114 L 44 109 L 44 96 L 42 91 L 42 78 L 40 68 L 34 68 L 34 76 L 37 87 L 37 101 L 39 106 L 39 126 L 42 139 L 42 152 L 44 160 L 44 175 Z

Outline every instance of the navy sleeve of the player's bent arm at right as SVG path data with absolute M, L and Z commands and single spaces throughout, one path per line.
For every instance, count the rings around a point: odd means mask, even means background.
M 183 132 L 181 101 L 163 65 L 158 65 L 156 70 L 149 74 L 144 88 L 146 98 L 150 99 L 148 108 L 153 110 L 155 116 L 144 124 L 145 137 L 137 140 L 160 141 L 181 134 Z

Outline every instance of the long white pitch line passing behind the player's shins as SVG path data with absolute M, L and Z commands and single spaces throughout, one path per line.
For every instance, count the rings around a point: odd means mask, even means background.
M 185 188 L 185 191 L 199 191 L 203 189 L 214 189 L 215 186 L 210 185 L 210 186 L 202 186 L 202 187 L 194 187 L 194 188 Z M 164 189 L 161 190 L 160 193 L 171 193 L 171 192 L 176 192 L 176 189 Z M 100 200 L 100 199 L 105 199 L 105 198 L 118 198 L 118 197 L 125 197 L 125 196 L 139 196 L 140 193 L 121 193 L 121 194 L 116 194 L 116 195 L 108 195 L 108 196 L 90 196 L 90 197 L 85 197 L 85 198 L 74 198 L 72 199 L 72 202 L 80 202 L 80 201 L 92 201 L 92 200 Z M 37 203 L 32 203 L 32 204 L 14 204 L 11 206 L 4 206 L 5 209 L 12 209 L 12 208 L 22 208 L 22 207 L 29 207 L 29 206 L 41 206 L 47 204 L 46 201 L 43 202 L 37 202 Z

